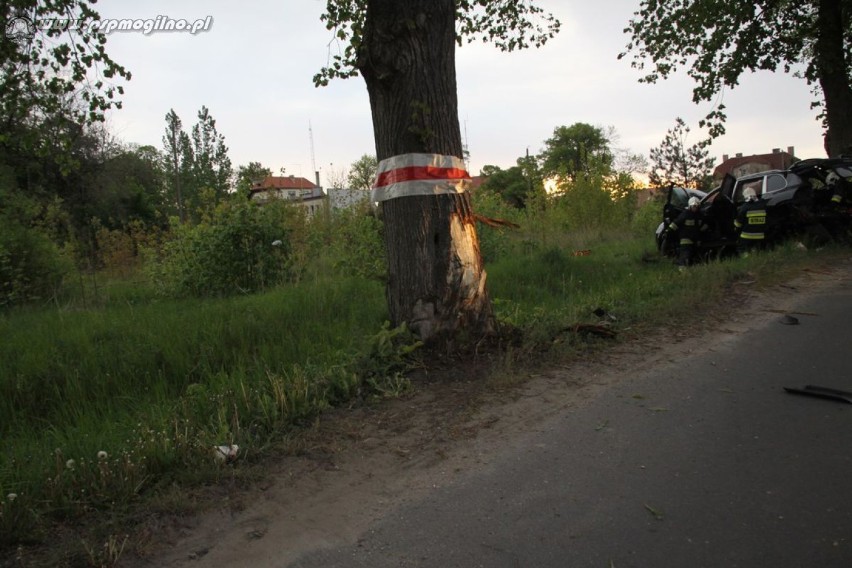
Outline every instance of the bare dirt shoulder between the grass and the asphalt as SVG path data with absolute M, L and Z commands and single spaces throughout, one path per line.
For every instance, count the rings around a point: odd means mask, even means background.
M 803 271 L 786 284 L 734 285 L 738 309 L 715 307 L 674 330 L 635 333 L 581 359 L 518 369 L 520 380 L 432 375 L 401 399 L 325 413 L 301 454 L 264 464 L 256 483 L 226 483 L 191 518 L 153 515 L 123 566 L 287 566 L 306 552 L 356 543 L 394 507 L 487 467 L 510 440 L 593 400 L 624 377 L 703 351 L 767 318 L 795 315 L 802 294 L 852 277 L 852 260 Z M 445 370 L 446 371 L 446 370 Z M 146 534 L 147 533 L 147 537 Z

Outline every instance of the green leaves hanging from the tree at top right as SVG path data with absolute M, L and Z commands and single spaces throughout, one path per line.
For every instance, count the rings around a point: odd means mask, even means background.
M 821 47 L 824 34 L 820 22 L 834 19 L 820 14 L 828 6 L 838 11 L 842 6 L 846 22 L 842 25 L 843 37 L 834 45 Z M 846 87 L 840 90 L 852 97 L 850 14 L 848 0 L 644 0 L 624 30 L 630 41 L 618 57 L 633 55 L 631 66 L 644 72 L 639 79 L 643 83 L 655 83 L 685 70 L 695 81 L 692 100 L 699 103 L 720 100 L 743 73 L 758 70 L 790 72 L 804 68 L 799 76 L 815 83 L 823 52 L 838 50 L 846 54 Z M 815 87 L 817 95 L 820 91 L 821 86 Z M 725 132 L 723 108 L 719 104 L 701 122 L 712 138 Z

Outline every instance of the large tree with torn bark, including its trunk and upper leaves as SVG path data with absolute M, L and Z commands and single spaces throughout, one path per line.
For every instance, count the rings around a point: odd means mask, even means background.
M 370 95 L 376 157 L 395 173 L 440 171 L 464 157 L 458 121 L 455 47 L 481 38 L 504 50 L 541 45 L 559 24 L 532 1 L 327 0 L 322 16 L 345 44 L 316 77 L 361 74 Z M 441 167 L 419 161 L 431 156 Z M 461 162 L 463 163 L 463 162 Z M 442 191 L 446 190 L 446 185 Z M 494 331 L 470 195 L 405 195 L 382 201 L 392 323 L 434 340 Z

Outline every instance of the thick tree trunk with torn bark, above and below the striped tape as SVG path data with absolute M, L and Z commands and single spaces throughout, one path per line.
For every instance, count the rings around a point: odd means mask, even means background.
M 358 52 L 379 161 L 462 157 L 454 0 L 370 0 Z M 494 331 L 470 195 L 382 202 L 391 323 L 424 340 Z

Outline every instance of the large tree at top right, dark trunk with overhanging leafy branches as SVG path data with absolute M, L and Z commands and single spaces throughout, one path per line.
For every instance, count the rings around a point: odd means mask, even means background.
M 643 0 L 625 32 L 633 66 L 648 71 L 640 80 L 685 67 L 696 103 L 720 98 L 745 72 L 794 71 L 822 107 L 826 153 L 852 153 L 852 0 Z M 725 118 L 719 102 L 703 123 L 711 137 Z

